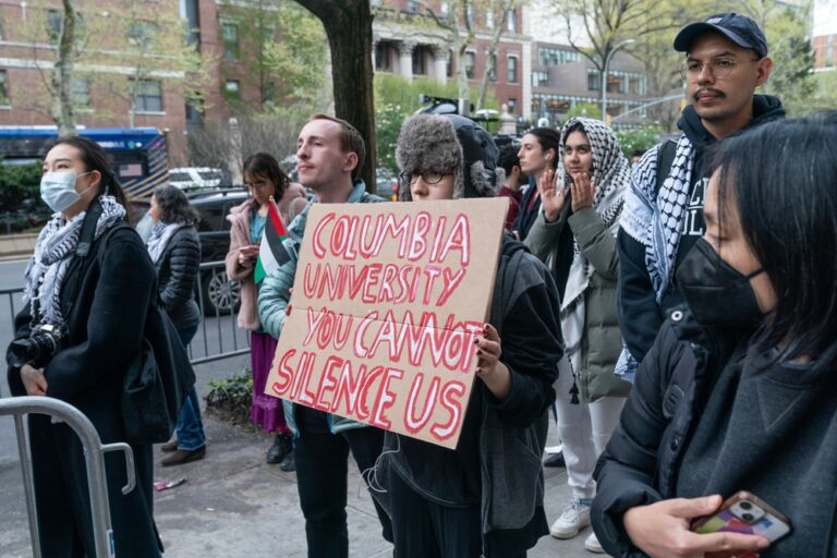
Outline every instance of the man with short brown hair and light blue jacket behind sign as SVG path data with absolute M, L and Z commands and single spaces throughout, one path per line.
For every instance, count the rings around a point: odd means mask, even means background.
M 365 154 L 363 137 L 354 126 L 333 117 L 315 114 L 303 126 L 296 143 L 300 181 L 317 194 L 320 204 L 384 202 L 367 194 L 366 185 L 359 178 Z M 290 289 L 311 207 L 311 204 L 306 206 L 288 228 L 284 246 L 290 259 L 265 278 L 258 292 L 262 325 L 275 338 L 279 338 L 288 318 Z M 384 433 L 289 400 L 282 403 L 294 437 L 296 487 L 305 517 L 308 557 L 347 557 L 349 451 L 361 471 L 368 470 L 380 454 Z M 389 518 L 377 504 L 376 509 L 383 536 L 391 541 Z

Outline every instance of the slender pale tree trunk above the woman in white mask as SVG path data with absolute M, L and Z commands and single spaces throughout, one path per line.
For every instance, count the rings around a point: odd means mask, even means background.
M 73 0 L 63 0 L 64 19 L 58 37 L 56 62 L 51 78 L 52 120 L 58 135 L 76 135 L 73 106 L 73 65 L 75 63 L 75 8 Z

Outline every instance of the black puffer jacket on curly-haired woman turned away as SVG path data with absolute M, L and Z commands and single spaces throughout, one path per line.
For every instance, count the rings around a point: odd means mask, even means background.
M 201 323 L 195 302 L 195 283 L 201 266 L 201 239 L 194 227 L 183 227 L 171 235 L 157 260 L 157 280 L 166 313 L 178 329 Z

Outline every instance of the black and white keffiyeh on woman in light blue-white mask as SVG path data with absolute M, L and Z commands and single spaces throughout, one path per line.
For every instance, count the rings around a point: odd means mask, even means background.
M 99 196 L 99 203 L 101 215 L 96 223 L 95 238 L 99 238 L 108 227 L 125 216 L 125 208 L 113 196 Z M 66 275 L 66 266 L 75 254 L 85 215 L 87 211 L 82 211 L 68 221 L 62 213 L 57 211 L 38 234 L 35 253 L 29 258 L 24 274 L 26 287 L 23 302 L 33 305 L 33 325 L 64 324 L 60 303 L 61 286 Z

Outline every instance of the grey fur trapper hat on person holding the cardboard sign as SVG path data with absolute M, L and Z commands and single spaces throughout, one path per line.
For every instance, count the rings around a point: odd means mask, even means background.
M 396 145 L 402 172 L 452 172 L 453 199 L 496 195 L 497 155 L 488 132 L 458 114 L 414 114 L 404 121 Z M 398 197 L 411 201 L 410 183 L 404 182 Z

